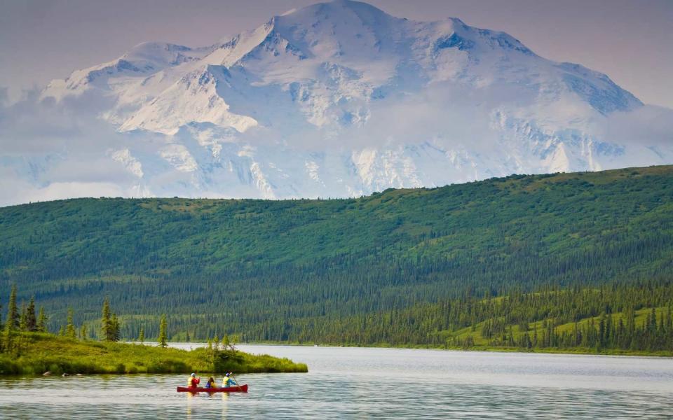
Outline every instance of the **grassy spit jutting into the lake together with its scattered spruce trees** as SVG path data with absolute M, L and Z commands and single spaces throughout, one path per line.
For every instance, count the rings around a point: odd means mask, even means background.
M 100 341 L 90 339 L 86 327 L 77 332 L 69 311 L 67 325 L 57 334 L 48 332 L 47 316 L 35 314 L 34 300 L 19 311 L 12 288 L 8 316 L 0 340 L 0 374 L 134 374 L 190 372 L 308 372 L 304 363 L 287 358 L 239 351 L 214 337 L 207 346 L 186 351 L 167 344 L 167 323 L 161 319 L 157 344 L 119 342 L 118 316 L 109 301 L 103 304 Z

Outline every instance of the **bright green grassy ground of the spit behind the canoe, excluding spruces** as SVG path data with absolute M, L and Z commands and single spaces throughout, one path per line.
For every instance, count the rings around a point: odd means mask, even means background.
M 243 351 L 191 351 L 142 344 L 79 341 L 21 332 L 20 351 L 0 353 L 0 374 L 308 372 L 304 363 Z

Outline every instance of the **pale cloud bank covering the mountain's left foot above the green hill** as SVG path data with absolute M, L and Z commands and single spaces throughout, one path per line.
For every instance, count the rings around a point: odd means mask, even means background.
M 131 141 L 97 118 L 95 95 L 54 104 L 25 92 L 14 104 L 0 89 L 0 205 L 69 197 L 137 195 L 138 179 L 109 150 Z

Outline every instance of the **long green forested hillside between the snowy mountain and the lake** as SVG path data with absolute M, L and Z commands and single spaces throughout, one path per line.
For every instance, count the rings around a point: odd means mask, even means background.
M 527 346 L 537 332 L 538 346 L 595 347 L 588 330 L 567 337 L 575 321 L 599 331 L 622 320 L 634 337 L 654 317 L 649 348 L 664 349 L 672 255 L 672 166 L 347 200 L 0 209 L 0 295 L 18 284 L 20 300 L 34 295 L 53 314 L 52 330 L 68 307 L 78 325 L 94 323 L 109 296 L 122 337 L 156 337 L 167 313 L 171 339 Z M 545 301 L 498 307 L 531 296 Z M 640 345 L 623 342 L 614 347 Z

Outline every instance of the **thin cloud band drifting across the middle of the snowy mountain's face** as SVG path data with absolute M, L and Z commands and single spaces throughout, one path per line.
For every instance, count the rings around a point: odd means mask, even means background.
M 521 106 L 532 103 L 532 96 L 522 97 L 521 90 L 512 90 L 508 86 L 475 89 L 460 83 L 434 83 L 413 94 L 390 94 L 370 102 L 351 99 L 343 107 L 329 109 L 327 112 L 341 113 L 329 114 L 332 123 L 319 128 L 305 120 L 292 124 L 285 120 L 280 121 L 285 127 L 278 130 L 280 124 L 274 120 L 270 128 L 254 127 L 239 139 L 258 147 L 280 143 L 309 152 L 395 148 L 425 142 L 440 148 L 465 146 L 487 152 L 498 135 L 489 127 L 493 109 L 511 102 L 514 94 Z

